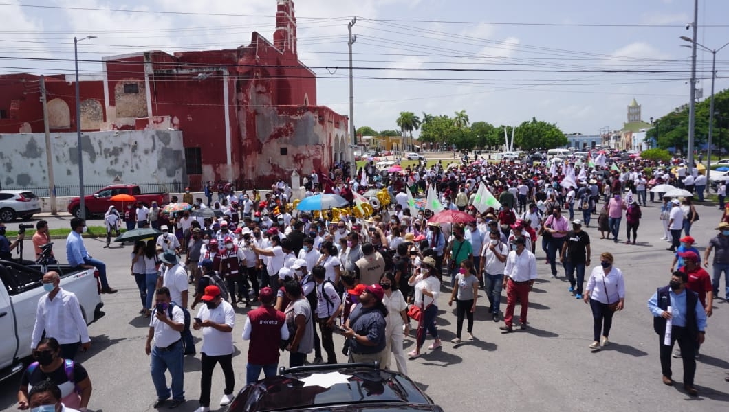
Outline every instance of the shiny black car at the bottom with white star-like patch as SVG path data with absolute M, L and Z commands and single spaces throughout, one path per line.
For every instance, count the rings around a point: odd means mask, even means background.
M 229 412 L 253 411 L 439 411 L 415 382 L 377 363 L 340 363 L 281 368 L 278 376 L 238 392 Z

